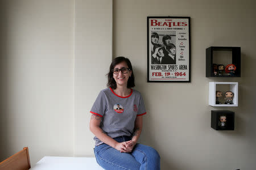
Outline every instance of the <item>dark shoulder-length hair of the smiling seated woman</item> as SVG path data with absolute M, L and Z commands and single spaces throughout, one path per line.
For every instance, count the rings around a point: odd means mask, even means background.
M 131 88 L 131 87 L 135 86 L 133 66 L 131 66 L 130 60 L 128 58 L 125 58 L 125 57 L 116 57 L 116 58 L 113 59 L 112 63 L 110 64 L 109 73 L 107 74 L 108 75 L 108 84 L 107 84 L 107 86 L 111 87 L 112 89 L 117 88 L 117 82 L 115 82 L 115 79 L 113 78 L 113 69 L 116 65 L 118 65 L 121 62 L 126 62 L 128 68 L 131 71 L 131 76 L 129 77 L 128 82 L 127 82 L 127 88 Z

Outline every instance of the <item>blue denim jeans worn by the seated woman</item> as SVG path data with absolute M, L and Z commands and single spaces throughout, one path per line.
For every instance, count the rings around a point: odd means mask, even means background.
M 122 136 L 114 138 L 117 142 L 130 141 L 131 137 Z M 137 143 L 130 153 L 121 153 L 105 143 L 95 146 L 94 154 L 97 163 L 104 169 L 160 169 L 160 156 L 158 152 L 146 145 Z

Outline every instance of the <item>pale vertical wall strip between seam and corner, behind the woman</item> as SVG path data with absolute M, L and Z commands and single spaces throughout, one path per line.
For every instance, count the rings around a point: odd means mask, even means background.
M 112 0 L 76 1 L 75 156 L 94 156 L 90 108 L 112 61 Z

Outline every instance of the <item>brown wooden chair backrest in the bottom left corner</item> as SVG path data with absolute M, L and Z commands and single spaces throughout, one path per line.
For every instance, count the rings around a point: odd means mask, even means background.
M 28 154 L 28 147 L 10 156 L 0 163 L 0 170 L 27 170 L 30 169 L 30 155 Z

